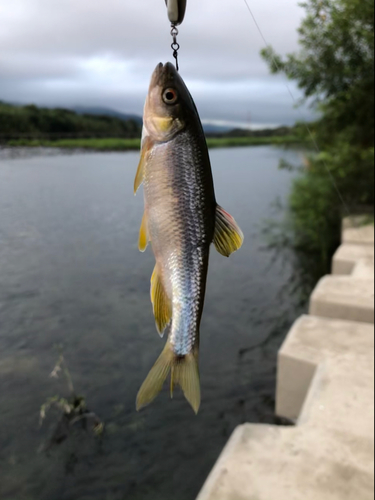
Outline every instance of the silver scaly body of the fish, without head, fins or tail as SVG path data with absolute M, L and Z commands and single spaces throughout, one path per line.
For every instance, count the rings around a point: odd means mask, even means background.
M 197 128 L 154 147 L 144 182 L 152 249 L 173 304 L 169 341 L 177 356 L 198 342 L 215 229 L 211 167 Z

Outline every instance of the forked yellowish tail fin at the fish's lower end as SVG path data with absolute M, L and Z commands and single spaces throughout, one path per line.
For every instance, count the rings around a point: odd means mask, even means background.
M 187 356 L 177 356 L 167 342 L 159 359 L 144 381 L 138 396 L 137 410 L 148 406 L 162 390 L 169 373 L 172 373 L 171 396 L 175 385 L 179 385 L 186 399 L 197 414 L 201 404 L 201 389 L 199 381 L 198 349 Z

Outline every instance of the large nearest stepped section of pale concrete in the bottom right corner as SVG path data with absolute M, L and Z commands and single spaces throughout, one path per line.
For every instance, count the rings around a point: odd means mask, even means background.
M 238 427 L 198 500 L 373 500 L 373 327 L 303 316 L 280 363 L 278 405 L 297 427 Z

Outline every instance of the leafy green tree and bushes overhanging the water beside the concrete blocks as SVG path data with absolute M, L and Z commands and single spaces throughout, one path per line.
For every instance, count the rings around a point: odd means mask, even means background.
M 374 204 L 374 0 L 301 5 L 299 51 L 282 57 L 268 47 L 262 56 L 272 72 L 297 81 L 320 116 L 311 130 L 321 152 L 294 183 L 287 224 L 316 280 L 340 242 L 344 205 L 345 213 Z

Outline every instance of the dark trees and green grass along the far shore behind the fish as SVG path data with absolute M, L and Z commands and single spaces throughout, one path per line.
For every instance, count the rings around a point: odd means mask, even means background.
M 69 109 L 15 106 L 0 102 L 0 145 L 132 151 L 140 148 L 142 119 L 118 113 L 88 114 Z M 220 128 L 206 133 L 210 148 L 288 145 L 304 141 L 301 126 L 265 130 Z

